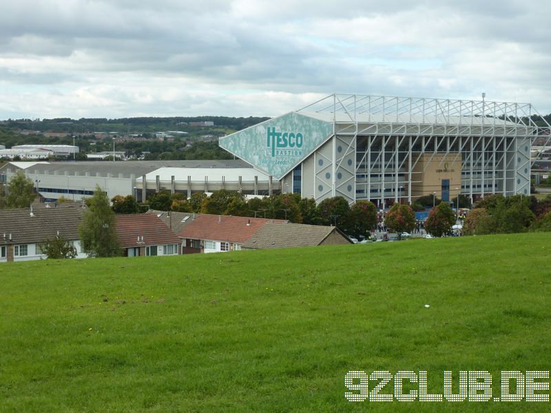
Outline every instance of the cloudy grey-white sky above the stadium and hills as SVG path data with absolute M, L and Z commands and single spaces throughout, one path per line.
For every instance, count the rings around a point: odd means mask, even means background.
M 279 116 L 334 92 L 551 112 L 548 0 L 0 0 L 0 119 Z

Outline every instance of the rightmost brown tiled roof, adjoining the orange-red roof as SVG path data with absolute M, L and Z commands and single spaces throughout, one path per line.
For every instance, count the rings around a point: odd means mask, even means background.
M 320 245 L 333 231 L 338 232 L 338 229 L 334 226 L 267 223 L 243 244 L 243 248 L 284 248 Z M 349 241 L 345 235 L 342 235 L 342 237 L 346 241 Z

